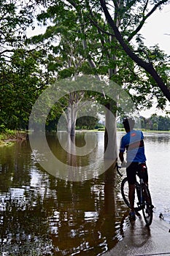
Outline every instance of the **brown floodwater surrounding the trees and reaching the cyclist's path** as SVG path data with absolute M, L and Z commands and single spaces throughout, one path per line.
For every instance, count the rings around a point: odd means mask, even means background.
M 117 144 L 123 134 L 117 133 Z M 68 164 L 56 135 L 48 135 L 47 141 L 55 156 Z M 31 151 L 28 141 L 0 148 L 2 256 L 102 255 L 123 238 L 130 224 L 120 194 L 121 178 L 112 167 L 104 173 L 99 170 L 103 132 L 96 133 L 96 141 L 88 156 L 74 159 L 79 165 L 93 166 L 90 173 L 95 175 L 83 181 L 44 170 L 37 163 L 41 156 L 35 157 L 38 152 Z M 170 133 L 144 133 L 144 142 L 154 217 L 163 213 L 170 222 Z M 76 143 L 85 144 L 83 133 Z

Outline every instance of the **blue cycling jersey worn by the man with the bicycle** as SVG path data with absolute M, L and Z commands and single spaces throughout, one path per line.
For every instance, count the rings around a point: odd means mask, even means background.
M 144 135 L 141 131 L 131 130 L 120 141 L 120 152 L 127 151 L 127 162 L 145 162 Z

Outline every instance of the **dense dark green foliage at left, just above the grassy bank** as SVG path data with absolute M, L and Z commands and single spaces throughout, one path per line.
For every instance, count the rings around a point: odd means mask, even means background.
M 0 120 L 9 129 L 26 129 L 32 105 L 41 93 L 36 53 L 22 48 L 14 50 L 10 66 L 3 63 L 0 71 Z

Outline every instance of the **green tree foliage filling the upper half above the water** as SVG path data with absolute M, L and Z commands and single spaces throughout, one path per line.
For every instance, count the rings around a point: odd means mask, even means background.
M 120 1 L 117 4 L 113 1 L 113 16 L 129 47 L 151 63 L 168 85 L 169 56 L 158 45 L 147 48 L 139 34 L 150 10 L 147 2 Z M 155 80 L 137 67 L 120 47 L 103 18 L 99 1 L 46 1 L 39 14 L 37 10 L 34 12 L 36 4 L 45 2 L 2 0 L 0 3 L 1 129 L 28 127 L 31 108 L 39 94 L 56 80 L 79 75 L 98 75 L 114 81 L 128 92 L 138 109 L 144 105 L 151 107 L 154 97 L 158 99 L 158 108 L 164 108 L 166 97 Z M 154 7 L 159 1 L 150 1 L 150 4 Z M 46 31 L 27 38 L 26 29 L 33 24 L 35 15 Z M 131 39 L 136 40 L 136 45 L 129 44 Z M 112 74 L 110 77 L 108 72 Z M 115 102 L 107 96 L 89 91 L 84 97 L 103 105 L 110 103 L 112 110 L 116 110 Z M 47 117 L 47 129 L 55 129 L 58 116 L 68 105 L 69 97 L 54 106 Z

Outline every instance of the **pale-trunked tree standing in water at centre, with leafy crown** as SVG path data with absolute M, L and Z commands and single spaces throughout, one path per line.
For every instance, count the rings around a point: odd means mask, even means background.
M 77 75 L 87 75 L 97 72 L 95 63 L 88 53 L 87 42 L 82 29 L 82 21 L 80 22 L 80 12 L 65 10 L 56 4 L 49 7 L 47 12 L 38 15 L 38 20 L 46 21 L 50 18 L 51 25 L 47 27 L 45 34 L 40 34 L 31 39 L 28 43 L 36 44 L 36 48 L 45 48 L 46 45 L 46 63 L 47 72 L 56 80 L 71 77 L 76 79 Z M 69 19 L 69 21 L 68 21 Z M 70 21 L 72 22 L 70 23 Z M 52 25 L 53 23 L 53 25 Z M 90 34 L 93 34 L 90 32 Z M 57 41 L 57 43 L 56 43 Z M 94 44 L 94 42 L 92 42 Z M 92 48 L 92 46 L 90 46 Z M 94 54 L 94 53 L 93 53 Z M 77 119 L 77 111 L 80 109 L 82 100 L 87 98 L 85 91 L 74 91 L 65 97 L 66 119 L 68 124 L 68 132 L 74 135 L 75 124 Z M 94 96 L 94 94 L 93 94 Z M 88 94 L 88 99 L 92 99 L 92 95 Z M 93 99 L 94 100 L 94 99 Z M 61 99 L 61 105 L 63 100 Z

